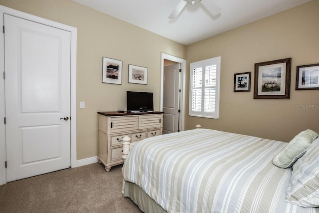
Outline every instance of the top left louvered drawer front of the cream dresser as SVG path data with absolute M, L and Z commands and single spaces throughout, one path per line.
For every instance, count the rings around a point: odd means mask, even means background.
M 138 120 L 137 116 L 112 117 L 110 119 L 110 133 L 137 130 Z

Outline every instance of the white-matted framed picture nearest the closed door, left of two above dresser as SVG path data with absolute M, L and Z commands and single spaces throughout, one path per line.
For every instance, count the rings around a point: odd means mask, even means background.
M 122 61 L 103 57 L 102 83 L 122 84 Z

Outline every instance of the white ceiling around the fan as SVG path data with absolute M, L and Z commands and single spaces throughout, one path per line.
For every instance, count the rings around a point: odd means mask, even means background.
M 180 0 L 73 0 L 181 44 L 188 45 L 311 0 L 214 0 L 213 16 L 200 2 L 168 16 Z M 85 15 L 85 14 L 83 14 Z

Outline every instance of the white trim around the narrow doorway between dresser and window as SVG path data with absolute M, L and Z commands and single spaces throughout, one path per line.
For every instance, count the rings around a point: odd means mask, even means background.
M 160 63 L 160 111 L 163 111 L 163 90 L 164 90 L 164 59 L 180 63 L 181 68 L 181 93 L 180 93 L 180 131 L 184 130 L 184 117 L 185 117 L 185 80 L 186 80 L 186 60 L 178 58 L 166 53 L 161 53 Z

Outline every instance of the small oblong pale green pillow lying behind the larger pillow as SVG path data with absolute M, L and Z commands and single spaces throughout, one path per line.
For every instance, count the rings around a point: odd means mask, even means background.
M 302 157 L 306 149 L 318 137 L 313 130 L 305 130 L 291 140 L 285 148 L 277 153 L 273 159 L 273 164 L 277 167 L 288 168 Z

